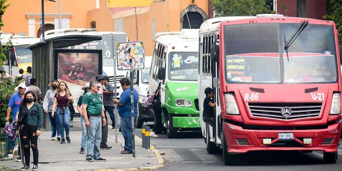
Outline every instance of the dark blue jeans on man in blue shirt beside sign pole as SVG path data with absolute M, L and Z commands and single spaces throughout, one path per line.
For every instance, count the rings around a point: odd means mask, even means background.
M 134 123 L 136 117 L 134 117 Z M 121 131 L 125 139 L 124 150 L 133 150 L 133 137 L 132 137 L 132 117 L 120 117 Z

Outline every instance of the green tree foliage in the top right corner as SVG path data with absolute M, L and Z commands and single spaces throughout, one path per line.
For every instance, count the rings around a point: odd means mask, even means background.
M 327 0 L 325 5 L 327 15 L 323 18 L 335 22 L 339 32 L 339 43 L 342 44 L 342 0 Z

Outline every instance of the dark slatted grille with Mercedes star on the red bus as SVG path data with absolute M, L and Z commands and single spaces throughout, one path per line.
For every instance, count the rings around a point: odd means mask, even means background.
M 248 103 L 254 117 L 282 120 L 318 117 L 322 103 Z

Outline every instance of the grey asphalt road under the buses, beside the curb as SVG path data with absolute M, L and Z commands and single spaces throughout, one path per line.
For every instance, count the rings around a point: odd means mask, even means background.
M 153 123 L 153 122 L 148 122 Z M 151 125 L 152 127 L 152 125 Z M 177 139 L 169 139 L 166 134 L 151 137 L 151 144 L 165 152 L 166 167 L 160 170 L 310 170 L 310 171 L 342 171 L 342 147 L 339 160 L 335 164 L 325 164 L 323 152 L 250 152 L 239 156 L 235 166 L 225 166 L 221 154 L 208 154 L 204 139 L 200 132 L 181 132 Z M 135 135 L 141 137 L 141 129 Z M 138 147 L 137 147 L 138 148 Z

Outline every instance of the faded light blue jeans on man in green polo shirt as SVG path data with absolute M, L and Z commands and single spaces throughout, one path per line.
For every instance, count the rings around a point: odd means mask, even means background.
M 100 144 L 102 138 L 102 118 L 90 116 L 90 127 L 87 128 L 87 156 L 86 158 L 100 158 Z

